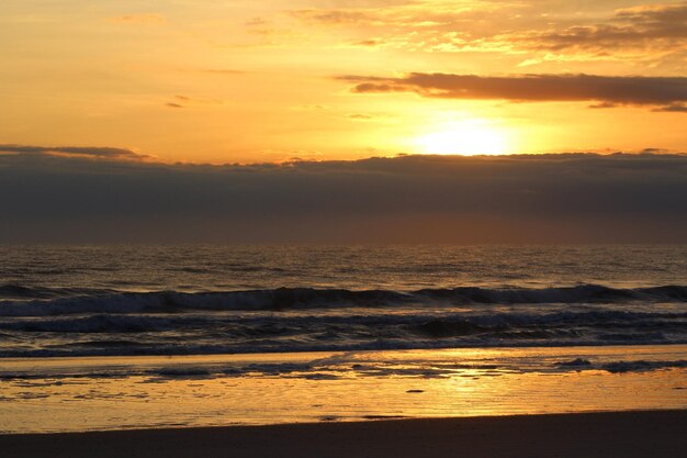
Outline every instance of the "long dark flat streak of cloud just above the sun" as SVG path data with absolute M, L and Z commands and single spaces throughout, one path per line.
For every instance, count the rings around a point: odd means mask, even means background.
M 682 111 L 687 102 L 685 77 L 409 74 L 402 78 L 338 78 L 353 82 L 357 93 L 415 92 L 431 98 L 515 102 L 593 101 L 599 102 L 596 108 L 657 105 L 663 111 Z

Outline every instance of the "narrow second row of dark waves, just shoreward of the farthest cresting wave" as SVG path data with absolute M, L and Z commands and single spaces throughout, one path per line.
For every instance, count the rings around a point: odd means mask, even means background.
M 657 329 L 687 333 L 687 312 L 555 312 L 555 313 L 432 313 L 418 314 L 346 314 L 346 315 L 217 315 L 217 314 L 93 314 L 65 315 L 46 319 L 11 317 L 0 320 L 0 331 L 25 333 L 150 333 L 166 331 L 221 332 L 232 336 L 273 336 L 329 332 L 337 335 L 395 332 L 431 338 L 484 335 L 503 336 L 516 332 L 570 332 L 575 328 L 613 331 Z M 510 334 L 508 334 L 510 333 Z M 526 334 L 522 334 L 525 336 Z M 604 334 L 620 339 L 621 334 Z

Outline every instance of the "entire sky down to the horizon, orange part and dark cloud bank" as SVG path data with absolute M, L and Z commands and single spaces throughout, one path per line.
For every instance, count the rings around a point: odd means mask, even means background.
M 0 243 L 687 243 L 687 2 L 2 0 Z

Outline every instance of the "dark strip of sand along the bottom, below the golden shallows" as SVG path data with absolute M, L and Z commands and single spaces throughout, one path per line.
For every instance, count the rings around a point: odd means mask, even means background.
M 0 435 L 12 458 L 687 456 L 687 411 Z

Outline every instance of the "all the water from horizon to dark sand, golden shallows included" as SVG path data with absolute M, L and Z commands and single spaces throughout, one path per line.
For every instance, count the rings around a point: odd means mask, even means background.
M 687 246 L 2 246 L 0 433 L 687 407 Z

